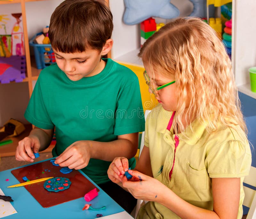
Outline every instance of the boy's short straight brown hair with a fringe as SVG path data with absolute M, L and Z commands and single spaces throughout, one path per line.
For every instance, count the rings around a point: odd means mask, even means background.
M 52 48 L 64 53 L 101 51 L 113 31 L 113 16 L 104 0 L 65 0 L 52 13 Z

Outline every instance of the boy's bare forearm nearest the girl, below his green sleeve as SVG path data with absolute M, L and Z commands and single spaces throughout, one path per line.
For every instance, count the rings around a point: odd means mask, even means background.
M 91 158 L 113 161 L 116 157 L 130 159 L 135 156 L 137 147 L 127 139 L 117 139 L 111 142 L 88 141 Z

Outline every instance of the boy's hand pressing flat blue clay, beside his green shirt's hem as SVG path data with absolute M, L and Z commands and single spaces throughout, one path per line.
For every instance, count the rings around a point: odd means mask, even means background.
M 68 146 L 60 156 L 56 157 L 55 163 L 60 167 L 69 169 L 82 169 L 86 167 L 91 158 L 92 145 L 89 141 L 76 141 Z

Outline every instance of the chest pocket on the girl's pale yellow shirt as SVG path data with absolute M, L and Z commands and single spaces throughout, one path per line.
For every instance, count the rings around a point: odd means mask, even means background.
M 195 169 L 191 165 L 187 164 L 187 176 L 188 183 L 195 190 L 205 190 L 206 189 L 206 169 Z

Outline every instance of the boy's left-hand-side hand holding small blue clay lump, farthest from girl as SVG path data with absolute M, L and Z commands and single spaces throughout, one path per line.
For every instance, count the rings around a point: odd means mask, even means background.
M 38 137 L 30 135 L 19 141 L 16 148 L 15 158 L 19 161 L 33 162 L 35 159 L 34 153 L 38 153 L 40 142 Z

